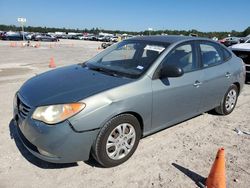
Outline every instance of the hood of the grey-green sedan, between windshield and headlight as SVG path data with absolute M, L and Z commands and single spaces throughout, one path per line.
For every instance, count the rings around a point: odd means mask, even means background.
M 19 95 L 33 107 L 71 103 L 132 81 L 89 70 L 82 65 L 71 65 L 29 79 L 20 88 Z

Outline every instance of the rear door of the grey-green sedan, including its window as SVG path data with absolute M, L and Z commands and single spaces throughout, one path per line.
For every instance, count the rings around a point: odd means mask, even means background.
M 208 111 L 219 106 L 230 86 L 231 70 L 224 61 L 221 47 L 210 41 L 199 41 L 200 61 L 202 64 L 203 98 L 200 111 Z

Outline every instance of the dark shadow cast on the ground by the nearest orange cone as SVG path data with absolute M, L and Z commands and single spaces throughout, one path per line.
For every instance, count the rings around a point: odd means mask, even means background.
M 176 163 L 172 163 L 172 165 L 193 180 L 198 187 L 205 187 L 206 178 Z

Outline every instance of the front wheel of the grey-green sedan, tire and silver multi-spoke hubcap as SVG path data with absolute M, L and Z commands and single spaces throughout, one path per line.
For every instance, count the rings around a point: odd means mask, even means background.
M 113 167 L 128 160 L 141 138 L 141 127 L 131 114 L 109 120 L 101 129 L 93 147 L 93 157 L 103 167 Z

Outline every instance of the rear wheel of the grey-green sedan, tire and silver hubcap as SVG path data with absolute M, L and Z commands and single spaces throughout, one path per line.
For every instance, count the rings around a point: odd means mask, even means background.
M 228 115 L 230 114 L 237 103 L 239 95 L 239 90 L 236 85 L 231 85 L 230 88 L 227 90 L 226 94 L 221 101 L 220 106 L 215 108 L 215 111 L 220 115 Z

